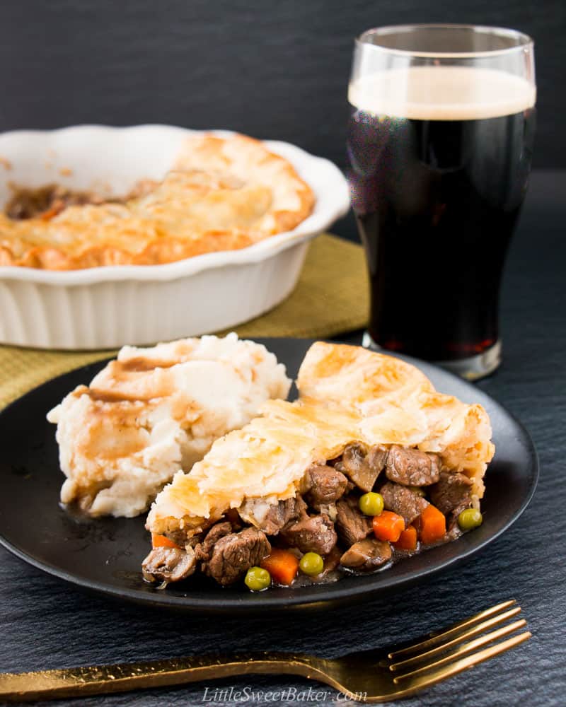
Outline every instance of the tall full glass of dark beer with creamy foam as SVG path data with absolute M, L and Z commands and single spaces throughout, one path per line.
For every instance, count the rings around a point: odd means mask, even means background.
M 364 344 L 481 378 L 501 360 L 499 284 L 531 168 L 533 42 L 472 25 L 369 30 L 348 99 Z

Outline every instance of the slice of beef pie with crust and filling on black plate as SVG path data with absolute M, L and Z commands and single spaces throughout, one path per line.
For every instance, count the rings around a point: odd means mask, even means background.
M 323 342 L 297 388 L 158 494 L 147 580 L 300 586 L 379 571 L 480 524 L 495 451 L 480 404 L 398 358 Z

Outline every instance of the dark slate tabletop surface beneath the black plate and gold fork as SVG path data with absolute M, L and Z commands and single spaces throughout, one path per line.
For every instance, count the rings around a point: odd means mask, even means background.
M 43 575 L 0 549 L 0 670 L 38 670 L 236 649 L 277 648 L 333 656 L 404 641 L 514 597 L 529 620 L 531 641 L 403 704 L 563 705 L 565 191 L 566 173 L 533 175 L 504 280 L 504 366 L 480 383 L 529 428 L 541 460 L 536 496 L 503 537 L 465 566 L 393 597 L 333 612 L 274 614 L 260 620 L 189 617 L 113 604 Z M 342 222 L 338 230 L 351 235 L 349 223 Z M 309 684 L 301 679 L 258 677 L 208 686 L 210 697 L 216 687 L 249 686 L 256 691 L 296 688 L 300 692 Z M 195 685 L 57 704 L 224 703 L 205 702 L 204 685 Z M 312 699 L 294 701 L 297 705 L 312 703 Z M 335 692 L 328 689 L 322 703 L 339 702 Z

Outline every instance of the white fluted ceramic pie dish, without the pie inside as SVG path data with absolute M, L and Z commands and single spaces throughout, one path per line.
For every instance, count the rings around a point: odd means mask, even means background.
M 79 125 L 1 134 L 0 206 L 11 182 L 123 194 L 142 177 L 161 179 L 195 132 Z M 313 213 L 297 228 L 242 250 L 164 265 L 0 267 L 0 343 L 48 349 L 151 344 L 233 327 L 281 302 L 296 284 L 308 240 L 344 216 L 350 199 L 344 175 L 330 161 L 288 143 L 265 144 L 294 165 L 316 196 Z

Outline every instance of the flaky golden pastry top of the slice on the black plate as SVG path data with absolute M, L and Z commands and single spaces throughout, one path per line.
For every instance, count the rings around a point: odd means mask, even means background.
M 297 380 L 297 402 L 271 400 L 262 416 L 217 440 L 190 474 L 178 472 L 151 508 L 152 532 L 196 534 L 246 498 L 295 496 L 310 464 L 346 445 L 401 445 L 436 452 L 472 481 L 476 501 L 495 447 L 481 405 L 434 390 L 414 366 L 357 346 L 317 342 Z

